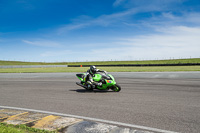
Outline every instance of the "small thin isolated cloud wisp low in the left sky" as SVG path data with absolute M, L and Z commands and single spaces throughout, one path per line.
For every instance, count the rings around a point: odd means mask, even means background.
M 60 43 L 49 41 L 49 40 L 39 40 L 39 41 L 22 40 L 22 42 L 26 44 L 42 46 L 42 47 L 61 47 L 62 46 Z

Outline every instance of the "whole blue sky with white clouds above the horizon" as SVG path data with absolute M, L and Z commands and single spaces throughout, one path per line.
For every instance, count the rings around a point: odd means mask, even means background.
M 199 0 L 0 0 L 0 60 L 200 58 Z

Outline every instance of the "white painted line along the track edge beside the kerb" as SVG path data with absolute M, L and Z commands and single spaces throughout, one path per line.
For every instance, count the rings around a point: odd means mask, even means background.
M 139 125 L 133 125 L 133 124 L 109 121 L 109 120 L 102 120 L 102 119 L 90 118 L 90 117 L 84 117 L 84 116 L 78 116 L 78 115 L 70 115 L 70 114 L 55 113 L 55 112 L 49 112 L 49 111 L 18 108 L 18 107 L 9 107 L 9 106 L 0 106 L 0 108 L 16 109 L 16 110 L 23 110 L 23 111 L 30 111 L 30 112 L 53 114 L 53 115 L 58 115 L 58 116 L 73 117 L 73 118 L 79 118 L 79 119 L 84 119 L 84 120 L 97 121 L 97 122 L 103 122 L 103 123 L 108 123 L 108 124 L 113 124 L 113 125 L 119 125 L 119 126 L 125 126 L 125 127 L 131 127 L 131 128 L 137 128 L 137 129 L 142 129 L 142 130 L 153 131 L 153 132 L 159 132 L 159 133 L 177 133 L 177 132 L 174 132 L 174 131 L 168 131 L 168 130 L 162 130 L 162 129 L 157 129 L 157 128 L 151 128 L 151 127 L 145 127 L 145 126 L 139 126 Z

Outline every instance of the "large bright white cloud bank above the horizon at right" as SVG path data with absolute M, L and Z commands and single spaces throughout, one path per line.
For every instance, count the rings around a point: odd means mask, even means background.
M 200 27 L 168 27 L 162 33 L 120 39 L 122 47 L 95 49 L 92 54 L 101 55 L 97 60 L 199 58 L 199 36 Z

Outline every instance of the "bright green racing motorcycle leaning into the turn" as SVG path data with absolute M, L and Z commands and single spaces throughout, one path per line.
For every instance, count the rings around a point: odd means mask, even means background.
M 76 82 L 77 85 L 85 88 L 86 90 L 89 90 L 87 82 L 85 82 L 86 73 L 76 74 L 77 78 L 80 79 L 81 82 Z M 95 85 L 93 89 L 98 90 L 113 90 L 114 92 L 119 92 L 121 90 L 121 87 L 115 82 L 114 77 L 111 74 L 106 74 L 103 72 L 97 72 L 93 76 L 94 82 L 98 83 L 101 82 L 102 85 Z

